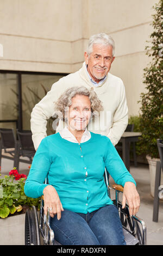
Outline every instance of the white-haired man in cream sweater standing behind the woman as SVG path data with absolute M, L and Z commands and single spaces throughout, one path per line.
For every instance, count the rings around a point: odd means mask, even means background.
M 54 116 L 54 101 L 68 87 L 74 86 L 94 89 L 103 103 L 104 112 L 99 119 L 92 119 L 89 130 L 108 136 L 113 145 L 118 143 L 128 124 L 128 108 L 122 80 L 109 73 L 115 59 L 114 51 L 114 40 L 109 35 L 100 33 L 91 36 L 82 68 L 54 83 L 47 95 L 35 105 L 31 114 L 35 149 L 39 147 L 42 138 L 47 136 L 47 119 Z M 62 127 L 60 120 L 57 131 Z

